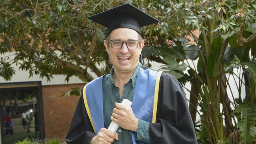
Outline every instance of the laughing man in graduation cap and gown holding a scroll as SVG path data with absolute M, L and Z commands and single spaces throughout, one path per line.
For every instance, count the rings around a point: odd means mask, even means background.
M 145 43 L 140 27 L 159 21 L 130 4 L 89 19 L 108 28 L 104 45 L 113 68 L 85 85 L 67 143 L 197 144 L 180 83 L 139 62 Z M 125 98 L 132 107 L 121 104 Z M 111 121 L 120 126 L 116 133 L 107 129 Z

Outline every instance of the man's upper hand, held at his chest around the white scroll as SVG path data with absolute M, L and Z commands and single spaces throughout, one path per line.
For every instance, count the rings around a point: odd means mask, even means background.
M 111 120 L 124 129 L 137 132 L 139 119 L 135 117 L 132 108 L 126 108 L 121 103 L 115 103 Z

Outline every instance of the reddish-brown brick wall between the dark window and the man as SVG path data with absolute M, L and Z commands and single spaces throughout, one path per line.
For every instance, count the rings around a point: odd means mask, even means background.
M 46 138 L 65 138 L 80 96 L 62 98 L 61 94 L 71 87 L 83 86 L 84 84 L 72 84 L 42 87 Z

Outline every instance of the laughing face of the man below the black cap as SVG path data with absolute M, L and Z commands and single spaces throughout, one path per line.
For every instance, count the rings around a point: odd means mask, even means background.
M 118 28 L 109 33 L 109 40 L 121 39 L 123 41 L 139 40 L 137 31 L 129 28 Z M 104 45 L 109 55 L 109 59 L 113 65 L 115 72 L 130 73 L 133 72 L 139 63 L 139 55 L 144 46 L 144 41 L 134 50 L 128 49 L 125 42 L 121 49 L 111 48 L 111 44 L 106 40 Z

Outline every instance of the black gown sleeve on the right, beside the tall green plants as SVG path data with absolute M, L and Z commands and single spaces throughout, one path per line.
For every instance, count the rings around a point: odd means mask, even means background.
M 150 123 L 151 144 L 197 144 L 185 92 L 174 76 L 160 78 L 156 123 Z

